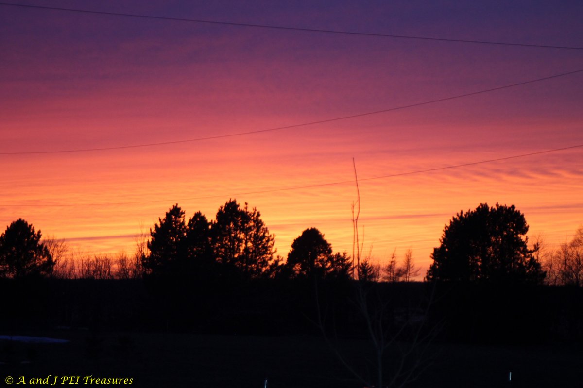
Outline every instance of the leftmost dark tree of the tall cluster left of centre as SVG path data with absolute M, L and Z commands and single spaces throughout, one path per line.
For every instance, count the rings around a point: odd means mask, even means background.
M 143 257 L 142 264 L 154 275 L 175 273 L 186 259 L 184 211 L 175 204 L 158 220 L 160 224 L 150 229 L 151 239 L 147 242 L 150 254 Z

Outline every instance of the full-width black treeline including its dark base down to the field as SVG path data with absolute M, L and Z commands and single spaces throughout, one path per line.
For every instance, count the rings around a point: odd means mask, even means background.
M 0 236 L 0 291 L 15 295 L 17 312 L 2 324 L 350 336 L 423 326 L 448 340 L 581 339 L 583 232 L 549 253 L 540 241 L 529 246 L 527 231 L 514 206 L 462 211 L 417 283 L 410 250 L 381 266 L 361 247 L 354 258 L 333 252 L 315 228 L 282 258 L 259 211 L 236 200 L 212 220 L 175 204 L 131 256 L 69 252 L 19 219 Z M 333 327 L 323 322 L 329 311 Z

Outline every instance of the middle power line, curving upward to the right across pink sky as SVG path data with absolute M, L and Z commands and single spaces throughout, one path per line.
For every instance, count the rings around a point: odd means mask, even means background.
M 275 127 L 275 128 L 250 130 L 250 131 L 247 131 L 247 132 L 227 133 L 226 135 L 196 137 L 195 139 L 172 140 L 172 141 L 169 141 L 169 142 L 133 144 L 133 145 L 129 145 L 129 146 L 84 148 L 84 149 L 73 149 L 73 150 L 0 152 L 0 155 L 60 154 L 60 153 L 89 152 L 89 151 L 122 150 L 122 149 L 132 149 L 132 148 L 142 148 L 142 147 L 164 146 L 164 145 L 168 145 L 168 144 L 180 144 L 180 143 L 200 142 L 200 141 L 203 141 L 203 140 L 224 139 L 226 137 L 234 137 L 234 136 L 254 135 L 256 133 L 273 132 L 273 131 L 276 131 L 276 130 L 284 130 L 284 129 L 298 128 L 298 127 L 301 127 L 301 126 L 324 124 L 324 123 L 327 123 L 327 122 L 334 122 L 334 121 L 352 119 L 352 118 L 357 118 L 357 117 L 365 117 L 365 116 L 376 115 L 376 114 L 381 114 L 381 113 L 386 113 L 386 112 L 391 112 L 391 111 L 396 111 L 396 110 L 402 110 L 402 109 L 407 109 L 407 108 L 420 107 L 422 105 L 428 105 L 428 104 L 434 104 L 434 103 L 441 103 L 443 101 L 455 100 L 456 98 L 476 96 L 476 94 L 483 94 L 483 93 L 489 93 L 491 91 L 508 89 L 510 87 L 522 86 L 522 85 L 529 84 L 529 83 L 535 83 L 535 82 L 540 82 L 540 81 L 544 81 L 544 80 L 554 79 L 554 78 L 558 78 L 558 77 L 564 77 L 564 76 L 573 75 L 575 73 L 580 73 L 580 72 L 583 72 L 583 69 L 575 70 L 575 71 L 567 72 L 567 73 L 556 74 L 556 75 L 552 75 L 552 76 L 548 76 L 548 77 L 543 77 L 543 78 L 528 80 L 528 81 L 524 81 L 524 82 L 518 82 L 518 83 L 509 84 L 509 85 L 498 86 L 498 87 L 494 87 L 494 88 L 491 88 L 491 89 L 473 91 L 471 93 L 458 94 L 457 96 L 437 98 L 436 100 L 423 101 L 422 103 L 402 105 L 400 107 L 393 107 L 393 108 L 388 108 L 388 109 L 384 109 L 384 110 L 380 110 L 380 111 L 366 112 L 366 113 L 360 113 L 360 114 L 343 116 L 343 117 L 335 117 L 335 118 L 324 119 L 324 120 L 319 120 L 319 121 L 304 122 L 304 123 L 301 123 L 301 124 L 278 126 L 278 127 Z

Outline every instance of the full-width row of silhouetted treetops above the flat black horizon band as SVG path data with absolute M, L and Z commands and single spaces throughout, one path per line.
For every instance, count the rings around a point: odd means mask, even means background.
M 528 224 L 514 206 L 480 204 L 456 214 L 431 254 L 426 280 L 583 285 L 583 227 L 570 242 L 550 251 L 542 239 L 529 246 Z M 149 234 L 136 237 L 132 255 L 70 252 L 66 242 L 41 238 L 19 219 L 0 236 L 0 277 L 129 279 L 143 277 L 343 278 L 411 281 L 420 274 L 413 253 L 385 264 L 369 257 L 332 252 L 324 234 L 305 229 L 287 257 L 276 255 L 271 234 L 255 208 L 229 200 L 214 220 L 200 211 L 186 218 L 178 204 L 159 218 Z M 361 252 L 361 247 L 356 253 Z

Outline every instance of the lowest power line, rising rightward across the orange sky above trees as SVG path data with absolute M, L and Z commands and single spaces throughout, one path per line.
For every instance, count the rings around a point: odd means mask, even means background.
M 459 168 L 459 167 L 468 167 L 470 165 L 492 163 L 492 162 L 496 162 L 496 161 L 510 160 L 510 159 L 527 157 L 527 156 L 540 155 L 540 154 L 547 154 L 547 153 L 571 150 L 571 149 L 576 149 L 576 148 L 581 148 L 581 147 L 583 147 L 583 144 L 577 144 L 575 146 L 569 146 L 569 147 L 561 147 L 561 148 L 556 148 L 556 149 L 552 149 L 552 150 L 536 151 L 536 152 L 531 152 L 528 154 L 520 154 L 520 155 L 501 157 L 501 158 L 496 158 L 496 159 L 487 159 L 487 160 L 481 160 L 481 161 L 470 162 L 470 163 L 448 165 L 448 166 L 444 166 L 444 167 L 428 168 L 427 170 L 399 172 L 398 174 L 380 175 L 378 177 L 370 177 L 370 178 L 360 178 L 359 181 L 373 181 L 375 179 L 386 179 L 386 178 L 403 177 L 405 175 L 423 174 L 425 172 L 449 170 L 451 168 Z M 231 197 L 231 198 L 233 198 L 233 197 L 241 196 L 241 195 L 275 193 L 275 192 L 279 192 L 279 191 L 310 189 L 310 188 L 343 185 L 343 184 L 354 184 L 354 180 L 351 179 L 349 181 L 328 182 L 328 183 L 316 184 L 316 185 L 292 186 L 292 187 L 279 188 L 279 189 L 249 191 L 249 192 L 241 192 L 241 193 L 230 194 L 230 195 L 209 195 L 209 196 L 190 197 L 190 198 L 178 198 L 178 199 L 171 199 L 171 200 L 164 199 L 164 200 L 150 200 L 150 201 L 136 201 L 136 202 L 102 202 L 102 203 L 69 203 L 69 204 L 2 204 L 2 206 L 5 206 L 5 207 L 73 207 L 73 206 L 117 206 L 117 205 L 127 205 L 127 204 L 160 203 L 160 202 L 177 203 L 177 202 L 181 202 L 181 201 L 195 200 L 195 199 L 209 199 L 209 198 L 219 198 L 219 197 L 223 197 L 223 198 L 224 197 Z

